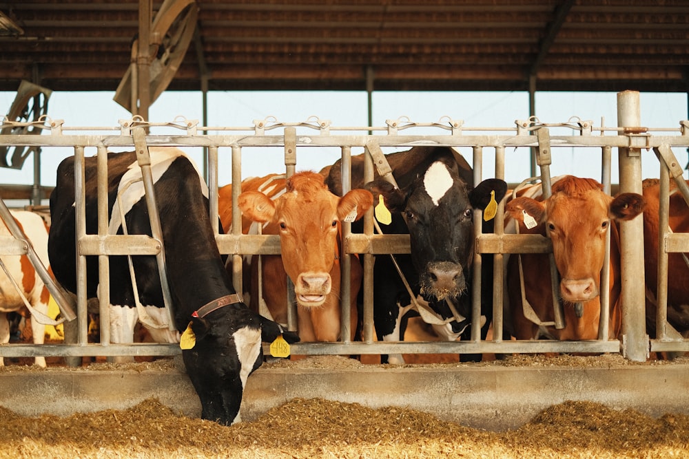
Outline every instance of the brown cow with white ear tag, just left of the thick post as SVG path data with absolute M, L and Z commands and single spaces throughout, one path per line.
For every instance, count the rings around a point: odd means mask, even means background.
M 508 261 L 507 284 L 515 338 L 598 338 L 600 277 L 608 230 L 611 231 L 609 338 L 619 337 L 619 234 L 617 224 L 611 224 L 610 219 L 631 220 L 636 217 L 644 209 L 644 198 L 636 193 L 623 193 L 613 199 L 602 189 L 595 180 L 565 175 L 553 182 L 552 195 L 547 200 L 520 196 L 506 204 L 506 212 L 519 223 L 520 233 L 545 235 L 547 226 L 561 279 L 558 296 L 564 306 L 566 322 L 565 328 L 558 330 L 554 326 L 539 326 L 525 317 L 520 257 L 526 299 L 542 322 L 553 321 L 550 264 L 547 254 L 512 255 Z M 531 228 L 524 224 L 525 219 Z

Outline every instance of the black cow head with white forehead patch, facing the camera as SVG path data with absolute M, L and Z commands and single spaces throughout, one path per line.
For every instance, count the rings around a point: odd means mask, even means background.
M 389 211 L 401 214 L 407 223 L 422 295 L 438 300 L 462 295 L 473 258 L 473 211 L 485 209 L 491 191 L 500 202 L 507 184 L 489 179 L 468 189 L 453 164 L 438 160 L 406 190 L 384 180 L 370 182 L 367 188 L 382 195 Z

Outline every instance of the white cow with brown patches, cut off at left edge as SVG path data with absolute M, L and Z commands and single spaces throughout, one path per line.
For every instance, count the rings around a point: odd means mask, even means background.
M 43 265 L 48 267 L 48 227 L 43 219 L 29 211 L 10 211 L 14 221 L 27 237 Z M 4 223 L 0 223 L 0 237 L 10 237 L 10 231 Z M 25 310 L 24 299 L 38 312 L 48 315 L 48 301 L 50 292 L 43 284 L 43 280 L 36 273 L 26 255 L 2 255 L 0 257 L 7 272 L 0 270 L 0 344 L 10 341 L 10 325 L 8 312 Z M 12 276 L 12 281 L 10 277 Z M 21 291 L 17 291 L 15 283 Z M 31 315 L 31 329 L 35 344 L 43 344 L 45 340 L 45 325 Z M 37 356 L 36 365 L 45 367 L 45 357 Z M 4 365 L 0 357 L 0 366 Z

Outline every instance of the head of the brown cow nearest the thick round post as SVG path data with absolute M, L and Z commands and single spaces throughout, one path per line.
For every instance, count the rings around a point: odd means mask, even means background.
M 566 175 L 553 184 L 547 200 L 515 198 L 505 209 L 519 222 L 520 233 L 545 234 L 547 228 L 561 278 L 560 296 L 581 303 L 599 295 L 610 220 L 633 219 L 644 210 L 644 198 L 637 193 L 612 198 L 595 180 Z M 527 228 L 524 218 L 537 226 Z

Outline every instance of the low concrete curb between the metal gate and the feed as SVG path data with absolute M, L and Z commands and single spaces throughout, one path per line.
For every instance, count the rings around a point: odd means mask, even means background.
M 689 364 L 619 367 L 260 368 L 249 377 L 243 420 L 292 398 L 327 398 L 373 408 L 398 406 L 462 425 L 500 431 L 564 401 L 593 401 L 650 416 L 689 414 Z M 23 416 L 126 409 L 157 398 L 175 412 L 200 415 L 184 372 L 29 370 L 0 372 L 0 405 Z

